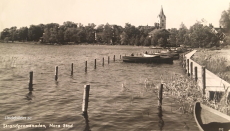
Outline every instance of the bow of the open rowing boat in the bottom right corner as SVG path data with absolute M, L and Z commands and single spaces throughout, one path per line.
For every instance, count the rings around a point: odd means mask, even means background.
M 229 131 L 230 116 L 196 102 L 194 118 L 200 131 Z

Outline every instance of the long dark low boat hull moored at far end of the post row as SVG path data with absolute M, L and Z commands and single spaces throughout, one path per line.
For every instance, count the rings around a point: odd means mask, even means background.
M 129 63 L 173 63 L 172 57 L 137 57 L 137 56 L 123 56 L 123 62 Z

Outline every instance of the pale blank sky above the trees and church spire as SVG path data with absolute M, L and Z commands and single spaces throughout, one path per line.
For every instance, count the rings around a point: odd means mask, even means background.
M 219 27 L 230 0 L 0 0 L 0 31 L 12 26 L 58 23 L 153 26 L 163 7 L 166 28 L 190 27 L 204 18 Z

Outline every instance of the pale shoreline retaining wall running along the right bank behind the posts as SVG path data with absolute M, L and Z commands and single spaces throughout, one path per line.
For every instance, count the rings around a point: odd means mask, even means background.
M 200 90 L 203 90 L 203 95 L 205 95 L 206 98 L 210 98 L 213 92 L 227 92 L 229 96 L 230 89 L 228 87 L 230 87 L 230 84 L 228 82 L 191 59 L 196 51 L 197 50 L 189 52 L 183 58 L 183 66 L 188 76 L 197 81 Z

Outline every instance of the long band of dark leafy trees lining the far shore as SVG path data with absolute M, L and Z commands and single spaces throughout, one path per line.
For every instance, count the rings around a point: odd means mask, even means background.
M 224 29 L 230 29 L 230 10 L 223 11 L 220 18 L 220 25 Z M 156 26 L 135 27 L 126 23 L 124 27 L 110 25 L 109 23 L 96 26 L 89 23 L 84 26 L 81 23 L 66 21 L 63 25 L 57 23 L 31 25 L 28 27 L 5 28 L 1 32 L 2 41 L 40 41 L 43 43 L 59 44 L 121 44 L 136 46 L 179 46 L 191 47 L 213 47 L 222 43 L 229 43 L 229 36 L 220 39 L 219 34 L 213 33 L 211 24 L 203 25 L 197 21 L 189 29 L 182 23 L 180 28 L 168 29 L 165 33 Z M 149 33 L 153 30 L 153 36 Z M 168 35 L 168 33 L 169 35 Z

